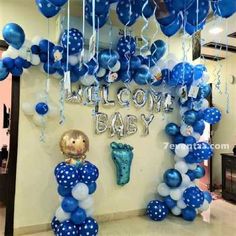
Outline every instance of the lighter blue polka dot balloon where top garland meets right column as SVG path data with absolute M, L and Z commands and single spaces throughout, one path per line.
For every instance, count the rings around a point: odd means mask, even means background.
M 172 80 L 181 85 L 193 82 L 193 66 L 187 62 L 177 64 L 172 70 Z

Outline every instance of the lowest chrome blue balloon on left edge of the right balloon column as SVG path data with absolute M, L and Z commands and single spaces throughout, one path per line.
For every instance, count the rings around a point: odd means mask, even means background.
M 176 169 L 169 169 L 163 175 L 164 182 L 170 188 L 177 188 L 182 183 L 182 176 Z

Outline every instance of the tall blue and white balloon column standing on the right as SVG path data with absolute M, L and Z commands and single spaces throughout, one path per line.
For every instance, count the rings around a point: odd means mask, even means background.
M 183 69 L 185 68 L 185 69 Z M 171 151 L 175 154 L 175 166 L 163 174 L 164 182 L 158 186 L 162 201 L 151 201 L 147 207 L 148 216 L 156 221 L 163 220 L 170 211 L 193 221 L 202 211 L 208 209 L 211 194 L 197 187 L 195 180 L 205 175 L 201 165 L 213 156 L 213 149 L 207 142 L 200 142 L 206 122 L 213 125 L 221 120 L 221 112 L 208 107 L 207 97 L 211 87 L 206 83 L 207 72 L 202 65 L 177 64 L 170 81 L 177 85 L 180 104 L 180 125 L 169 123 L 165 132 L 172 139 Z M 160 209 L 160 210 L 159 210 Z M 162 214 L 163 213 L 163 214 Z

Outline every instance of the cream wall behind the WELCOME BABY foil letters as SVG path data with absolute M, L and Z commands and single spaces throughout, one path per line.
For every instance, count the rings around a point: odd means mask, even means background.
M 19 1 L 17 1 L 19 2 Z M 16 1 L 0 0 L 0 29 L 7 22 L 21 24 L 28 38 L 34 35 L 47 37 L 47 20 L 37 12 L 34 1 L 29 5 L 17 4 Z M 22 3 L 22 1 L 21 1 Z M 25 3 L 25 1 L 24 1 Z M 154 24 L 152 24 L 153 26 Z M 55 21 L 50 20 L 51 39 L 54 38 Z M 152 28 L 149 33 L 153 34 Z M 158 37 L 161 37 L 158 34 Z M 157 38 L 158 38 L 157 37 Z M 182 57 L 182 42 L 179 38 L 167 40 L 169 51 Z M 20 102 L 33 101 L 34 95 L 44 89 L 46 75 L 38 68 L 32 68 L 21 78 Z M 50 97 L 55 104 L 59 100 L 59 83 L 51 81 Z M 119 110 L 122 114 L 140 116 L 147 111 L 119 109 L 105 110 L 112 113 Z M 17 163 L 17 182 L 15 198 L 15 228 L 49 223 L 58 204 L 56 181 L 53 176 L 54 167 L 63 160 L 58 142 L 61 134 L 68 129 L 81 129 L 90 138 L 91 148 L 88 160 L 98 166 L 100 178 L 95 194 L 96 215 L 138 210 L 146 207 L 149 200 L 155 198 L 157 184 L 162 174 L 173 166 L 172 155 L 164 150 L 163 142 L 167 141 L 164 127 L 167 122 L 174 121 L 174 114 L 163 119 L 161 113 L 156 114 L 148 137 L 136 134 L 121 140 L 134 147 L 131 181 L 124 187 L 118 187 L 115 179 L 115 168 L 110 157 L 109 144 L 115 140 L 106 135 L 94 134 L 91 108 L 81 105 L 65 106 L 66 121 L 63 126 L 58 120 L 50 121 L 46 129 L 46 143 L 40 143 L 40 129 L 34 126 L 31 119 L 20 112 L 19 147 Z M 139 125 L 139 128 L 141 126 Z

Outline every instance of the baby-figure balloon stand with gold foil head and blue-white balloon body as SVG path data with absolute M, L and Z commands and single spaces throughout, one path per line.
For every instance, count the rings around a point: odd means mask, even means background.
M 52 229 L 56 236 L 95 236 L 98 224 L 92 218 L 91 195 L 96 191 L 99 171 L 85 160 L 89 139 L 82 131 L 69 130 L 62 135 L 60 148 L 66 159 L 56 166 L 54 173 L 62 200 L 52 220 Z

